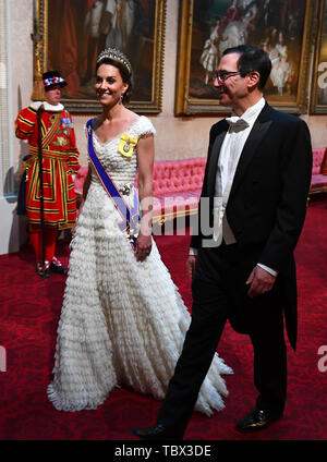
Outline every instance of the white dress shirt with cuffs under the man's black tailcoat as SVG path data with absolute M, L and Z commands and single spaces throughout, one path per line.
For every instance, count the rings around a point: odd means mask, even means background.
M 227 122 L 230 124 L 230 126 L 223 138 L 223 142 L 220 148 L 219 160 L 218 160 L 218 166 L 220 169 L 220 179 L 219 181 L 218 181 L 218 178 L 216 179 L 215 196 L 219 197 L 221 195 L 218 189 L 221 187 L 222 194 L 223 194 L 223 192 L 226 192 L 227 190 L 231 187 L 231 184 L 233 182 L 233 178 L 237 171 L 237 167 L 238 167 L 243 147 L 246 143 L 247 136 L 250 135 L 250 132 L 258 114 L 263 110 L 265 104 L 266 104 L 265 99 L 261 98 L 254 106 L 251 106 L 251 108 L 247 108 L 241 118 L 233 114 L 232 117 L 226 119 Z M 231 156 L 231 153 L 233 153 L 232 156 Z M 221 183 L 220 185 L 219 185 L 219 182 Z M 190 255 L 196 255 L 196 254 L 197 254 L 197 250 L 191 247 Z M 278 273 L 276 270 L 268 268 L 267 266 L 261 263 L 258 263 L 257 265 L 275 277 Z

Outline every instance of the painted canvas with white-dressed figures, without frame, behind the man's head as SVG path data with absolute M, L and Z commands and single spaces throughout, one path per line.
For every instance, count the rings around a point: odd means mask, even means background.
M 306 0 L 194 0 L 189 96 L 218 99 L 219 59 L 249 44 L 270 54 L 268 98 L 296 101 L 305 12 Z

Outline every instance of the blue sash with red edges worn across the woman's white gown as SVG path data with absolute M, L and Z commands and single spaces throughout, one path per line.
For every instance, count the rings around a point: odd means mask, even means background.
M 109 197 L 113 202 L 113 205 L 116 209 L 119 211 L 120 216 L 122 217 L 122 222 L 119 224 L 119 228 L 121 231 L 126 231 L 130 238 L 130 242 L 132 244 L 132 247 L 135 250 L 136 246 L 136 236 L 134 233 L 136 233 L 137 224 L 140 221 L 140 215 L 138 215 L 138 200 L 137 200 L 137 193 L 134 191 L 134 204 L 132 210 L 125 203 L 124 198 L 120 194 L 120 191 L 111 180 L 108 172 L 105 170 L 102 163 L 100 162 L 99 158 L 97 157 L 94 145 L 93 145 L 93 127 L 92 127 L 92 121 L 93 119 L 89 119 L 86 122 L 86 127 L 88 132 L 88 156 L 92 161 L 92 165 L 97 172 L 99 180 L 105 187 L 106 192 L 108 193 Z

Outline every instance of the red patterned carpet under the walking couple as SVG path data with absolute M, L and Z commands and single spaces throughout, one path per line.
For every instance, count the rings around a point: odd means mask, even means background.
M 226 409 L 208 418 L 194 413 L 186 439 L 192 440 L 324 440 L 327 439 L 327 370 L 319 372 L 318 349 L 327 345 L 327 199 L 312 200 L 296 248 L 300 339 L 289 349 L 289 394 L 284 418 L 257 435 L 241 435 L 235 422 L 253 405 L 252 352 L 245 336 L 228 326 L 219 353 L 234 369 L 227 376 Z M 184 273 L 187 236 L 157 236 L 162 259 L 187 306 L 190 282 Z M 61 246 L 62 260 L 69 251 Z M 7 372 L 0 372 L 1 440 L 132 440 L 131 429 L 156 418 L 159 402 L 125 388 L 116 389 L 96 411 L 64 413 L 47 400 L 53 365 L 56 330 L 64 280 L 41 280 L 34 272 L 31 248 L 0 257 L 0 345 Z M 327 346 L 326 346 L 327 349 Z M 3 353 L 3 349 L 1 349 Z M 326 353 L 325 353 L 326 354 Z M 3 369 L 3 364 L 2 364 Z

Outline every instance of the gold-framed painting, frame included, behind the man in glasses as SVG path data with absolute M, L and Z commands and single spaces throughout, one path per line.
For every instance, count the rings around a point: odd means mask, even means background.
M 223 50 L 265 49 L 272 69 L 268 102 L 287 112 L 307 111 L 307 70 L 317 0 L 181 0 L 175 114 L 227 113 L 214 75 Z

